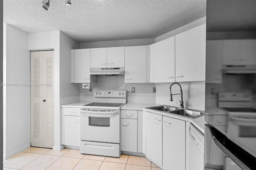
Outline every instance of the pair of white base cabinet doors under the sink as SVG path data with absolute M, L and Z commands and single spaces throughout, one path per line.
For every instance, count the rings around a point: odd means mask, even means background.
M 184 170 L 186 121 L 143 111 L 146 157 L 167 170 Z

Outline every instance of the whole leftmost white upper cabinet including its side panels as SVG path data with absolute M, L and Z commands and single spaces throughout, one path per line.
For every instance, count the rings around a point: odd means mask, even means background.
M 90 75 L 90 49 L 71 49 L 71 83 L 95 82 Z

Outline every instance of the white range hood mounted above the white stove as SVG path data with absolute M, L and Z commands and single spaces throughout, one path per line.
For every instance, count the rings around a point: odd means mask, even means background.
M 90 75 L 124 75 L 124 67 L 118 68 L 91 68 Z

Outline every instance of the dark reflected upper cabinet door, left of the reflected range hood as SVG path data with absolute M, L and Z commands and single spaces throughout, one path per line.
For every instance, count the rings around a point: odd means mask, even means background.
M 222 40 L 206 41 L 206 83 L 222 83 Z

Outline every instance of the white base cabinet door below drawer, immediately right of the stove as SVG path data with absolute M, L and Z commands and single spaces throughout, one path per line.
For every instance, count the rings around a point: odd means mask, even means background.
M 121 119 L 121 150 L 137 152 L 137 119 Z

